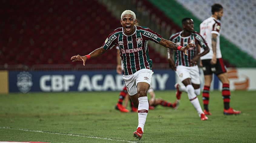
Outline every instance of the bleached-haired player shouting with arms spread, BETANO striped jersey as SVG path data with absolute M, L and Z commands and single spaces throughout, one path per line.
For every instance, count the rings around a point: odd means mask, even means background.
M 154 41 L 166 48 L 179 50 L 185 54 L 187 49 L 195 47 L 195 45 L 189 43 L 182 47 L 174 42 L 163 39 L 158 33 L 147 27 L 135 26 L 136 22 L 136 15 L 133 11 L 124 11 L 121 14 L 120 20 L 122 27 L 110 33 L 102 47 L 85 56 L 80 56 L 79 54 L 72 56 L 71 60 L 73 62 L 83 61 L 83 65 L 85 65 L 86 60 L 95 58 L 118 44 L 120 57 L 124 65 L 123 79 L 134 106 L 138 107 L 138 127 L 133 132 L 133 135 L 135 138 L 141 139 L 148 114 L 147 92 L 153 74 L 151 70 L 152 60 L 150 60 L 148 55 L 148 41 Z

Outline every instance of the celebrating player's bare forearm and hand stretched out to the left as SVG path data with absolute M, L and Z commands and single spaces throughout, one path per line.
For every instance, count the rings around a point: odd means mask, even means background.
M 74 62 L 74 61 L 83 61 L 83 65 L 85 65 L 85 61 L 88 58 L 98 57 L 99 55 L 103 54 L 105 51 L 106 50 L 101 47 L 101 48 L 98 48 L 98 49 L 94 50 L 93 52 L 91 52 L 90 54 L 85 55 L 85 56 L 80 56 L 79 54 L 76 55 L 76 56 L 72 56 L 71 60 L 72 60 L 72 62 Z

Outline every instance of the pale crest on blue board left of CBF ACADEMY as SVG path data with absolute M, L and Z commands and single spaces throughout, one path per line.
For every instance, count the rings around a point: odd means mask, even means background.
M 20 92 L 27 93 L 33 85 L 32 75 L 28 72 L 20 72 L 17 75 L 17 86 Z

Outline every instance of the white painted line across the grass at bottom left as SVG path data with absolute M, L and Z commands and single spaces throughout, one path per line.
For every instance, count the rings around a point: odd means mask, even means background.
M 10 127 L 0 127 L 0 129 L 12 129 L 12 130 L 20 130 L 20 131 L 26 131 L 26 132 L 40 132 L 40 133 L 47 133 L 47 134 L 53 134 L 53 135 L 68 135 L 68 136 L 83 137 L 83 138 L 96 138 L 96 139 L 103 139 L 103 140 L 109 140 L 109 141 L 121 141 L 121 142 L 137 143 L 135 141 L 125 141 L 125 140 L 118 140 L 118 139 L 112 139 L 112 138 L 101 138 L 101 137 L 94 137 L 94 136 L 74 135 L 74 134 L 65 134 L 65 133 L 58 133 L 58 132 L 45 132 L 45 131 L 37 131 L 37 130 L 29 130 L 29 129 L 15 129 L 15 128 L 10 128 Z

